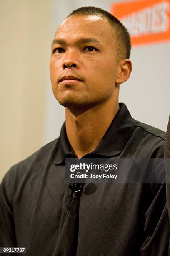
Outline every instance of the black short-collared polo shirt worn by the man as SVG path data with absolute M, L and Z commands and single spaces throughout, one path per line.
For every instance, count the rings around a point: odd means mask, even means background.
M 164 135 L 135 121 L 120 103 L 84 157 L 163 158 Z M 65 180 L 71 156 L 64 123 L 59 138 L 7 172 L 0 187 L 0 247 L 27 247 L 28 256 L 168 255 L 165 184 L 90 183 L 73 197 Z

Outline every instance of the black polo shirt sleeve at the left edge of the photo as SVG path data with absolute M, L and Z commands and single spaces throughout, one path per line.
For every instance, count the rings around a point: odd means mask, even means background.
M 0 184 L 0 247 L 17 246 L 12 197 L 13 174 L 9 171 Z

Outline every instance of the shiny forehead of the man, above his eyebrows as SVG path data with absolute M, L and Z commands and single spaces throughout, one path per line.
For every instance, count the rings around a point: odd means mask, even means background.
M 63 20 L 55 33 L 57 39 L 71 41 L 77 37 L 92 37 L 111 44 L 115 38 L 115 30 L 107 19 L 99 15 L 75 15 Z

